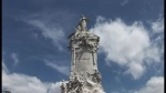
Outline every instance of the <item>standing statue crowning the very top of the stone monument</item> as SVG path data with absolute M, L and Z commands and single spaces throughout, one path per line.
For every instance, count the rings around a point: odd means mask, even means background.
M 89 22 L 90 19 L 89 18 L 85 18 L 83 14 L 82 14 L 82 18 L 80 19 L 80 22 L 77 24 L 77 30 L 80 31 L 87 31 L 87 28 L 86 28 L 86 22 Z

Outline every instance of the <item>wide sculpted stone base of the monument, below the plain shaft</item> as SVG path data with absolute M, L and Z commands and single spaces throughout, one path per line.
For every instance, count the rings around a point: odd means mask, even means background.
M 92 80 L 84 75 L 74 75 L 69 82 L 62 82 L 62 93 L 105 93 L 97 78 L 91 74 Z M 74 78 L 74 79 L 73 79 Z

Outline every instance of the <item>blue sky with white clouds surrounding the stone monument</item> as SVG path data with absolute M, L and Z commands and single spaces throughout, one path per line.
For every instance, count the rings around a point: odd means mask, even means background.
M 81 14 L 106 93 L 164 93 L 164 0 L 2 0 L 2 90 L 60 93 Z

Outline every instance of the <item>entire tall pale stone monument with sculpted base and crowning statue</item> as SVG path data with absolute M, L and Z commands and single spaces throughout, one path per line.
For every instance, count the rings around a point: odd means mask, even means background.
M 87 32 L 90 19 L 82 14 L 72 33 L 69 50 L 72 52 L 71 72 L 68 82 L 62 81 L 61 93 L 105 93 L 97 70 L 97 49 L 100 38 Z

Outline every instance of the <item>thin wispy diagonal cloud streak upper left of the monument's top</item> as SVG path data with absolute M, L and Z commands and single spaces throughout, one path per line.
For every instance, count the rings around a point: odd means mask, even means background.
M 63 50 L 63 48 L 60 45 L 60 41 L 63 41 L 63 39 L 64 39 L 64 33 L 63 33 L 63 30 L 61 28 L 58 28 L 55 25 L 54 27 L 53 25 L 49 25 L 43 20 L 33 19 L 33 20 L 24 20 L 24 21 L 27 23 L 38 28 L 39 31 L 42 32 L 42 35 L 45 39 L 51 39 L 53 44 L 55 46 L 58 46 L 59 50 Z

